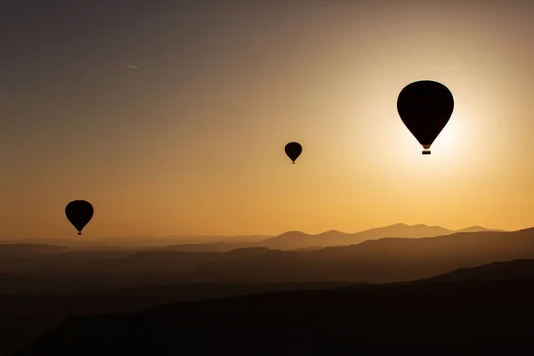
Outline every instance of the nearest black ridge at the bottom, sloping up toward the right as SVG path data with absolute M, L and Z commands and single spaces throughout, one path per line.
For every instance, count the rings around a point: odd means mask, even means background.
M 480 268 L 488 271 L 481 279 L 491 279 L 495 268 Z M 532 354 L 534 276 L 524 277 L 279 292 L 70 318 L 14 355 Z

